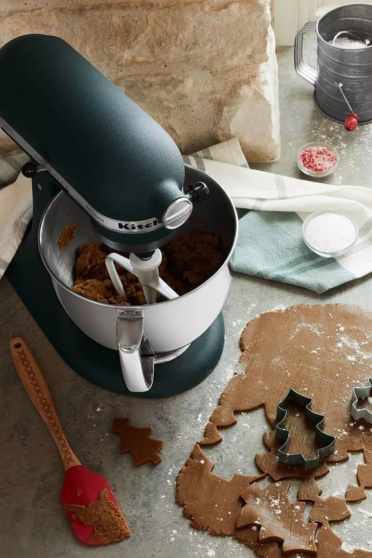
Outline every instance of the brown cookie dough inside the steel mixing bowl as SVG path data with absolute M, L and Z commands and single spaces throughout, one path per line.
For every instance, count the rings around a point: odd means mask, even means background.
M 105 258 L 112 252 L 111 248 L 95 242 L 81 246 L 75 265 L 73 290 L 87 299 L 104 304 L 146 304 L 143 288 L 137 277 L 118 265 L 116 267 L 128 301 L 115 290 L 105 266 Z M 214 275 L 223 258 L 218 235 L 181 234 L 162 248 L 159 275 L 178 295 L 184 295 Z M 161 295 L 157 294 L 157 299 L 161 301 Z

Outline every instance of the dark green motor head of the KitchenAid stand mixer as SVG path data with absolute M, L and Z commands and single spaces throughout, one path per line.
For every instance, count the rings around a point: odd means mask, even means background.
M 49 172 L 113 249 L 146 257 L 206 196 L 205 184 L 184 185 L 167 132 L 59 37 L 9 41 L 0 74 L 0 126 L 32 158 L 26 176 Z

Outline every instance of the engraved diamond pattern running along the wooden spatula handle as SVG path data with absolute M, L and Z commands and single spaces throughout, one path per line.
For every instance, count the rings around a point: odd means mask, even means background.
M 40 401 L 40 405 L 42 410 L 44 411 L 44 415 L 46 417 L 47 423 L 50 426 L 51 432 L 53 432 L 55 436 L 56 443 L 63 454 L 63 458 L 67 465 L 70 465 L 74 461 L 74 455 L 71 451 L 69 444 L 67 444 L 66 437 L 62 432 L 58 421 L 54 415 L 54 412 L 50 408 L 49 402 L 46 400 L 44 393 L 41 389 L 40 383 L 38 383 L 38 379 L 36 378 L 35 372 L 33 372 L 33 368 L 30 364 L 30 360 L 28 360 L 25 351 L 22 349 L 17 351 L 17 354 L 20 357 L 22 362 L 23 368 L 25 368 L 26 374 L 31 381 L 33 391 L 35 391 L 38 400 Z

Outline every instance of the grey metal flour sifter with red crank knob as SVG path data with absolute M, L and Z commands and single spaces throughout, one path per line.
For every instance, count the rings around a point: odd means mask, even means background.
M 310 32 L 317 35 L 316 70 L 302 59 L 303 35 Z M 294 42 L 294 68 L 315 87 L 325 116 L 344 122 L 351 113 L 359 124 L 372 121 L 372 5 L 346 4 L 306 23 Z

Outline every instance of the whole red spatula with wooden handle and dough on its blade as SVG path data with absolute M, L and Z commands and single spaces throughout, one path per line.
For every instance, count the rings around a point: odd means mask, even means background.
M 88 545 L 121 541 L 131 535 L 117 501 L 104 477 L 81 465 L 71 450 L 58 420 L 44 376 L 21 338 L 10 350 L 23 386 L 59 449 L 65 468 L 61 503 L 75 535 Z

